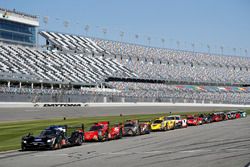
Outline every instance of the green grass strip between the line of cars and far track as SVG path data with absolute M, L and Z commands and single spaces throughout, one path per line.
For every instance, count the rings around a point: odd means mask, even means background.
M 250 109 L 246 110 L 250 114 Z M 175 113 L 175 114 L 195 114 L 197 112 L 189 113 Z M 68 118 L 63 119 L 49 119 L 49 120 L 31 120 L 31 121 L 11 121 L 0 122 L 0 151 L 16 150 L 20 148 L 21 137 L 32 132 L 38 135 L 41 130 L 49 125 L 80 125 L 84 124 L 85 130 L 98 121 L 110 121 L 111 126 L 114 123 L 124 122 L 128 119 L 139 120 L 153 120 L 159 116 L 167 116 L 169 114 L 146 114 L 146 115 L 124 115 L 124 116 L 103 116 L 103 117 L 82 117 L 82 118 Z

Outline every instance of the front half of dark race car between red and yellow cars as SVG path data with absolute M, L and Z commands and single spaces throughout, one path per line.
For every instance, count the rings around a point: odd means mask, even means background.
M 124 136 L 136 136 L 141 134 L 138 120 L 126 120 L 124 123 Z

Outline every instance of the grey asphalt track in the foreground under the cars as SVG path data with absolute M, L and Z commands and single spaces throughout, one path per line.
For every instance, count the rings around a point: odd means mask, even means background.
M 0 167 L 244 167 L 250 117 L 56 151 L 0 154 Z

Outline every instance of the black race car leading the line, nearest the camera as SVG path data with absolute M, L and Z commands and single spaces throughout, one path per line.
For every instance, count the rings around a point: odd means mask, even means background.
M 70 136 L 70 129 L 74 129 Z M 43 130 L 40 135 L 32 136 L 30 133 L 23 136 L 21 140 L 21 149 L 60 149 L 62 147 L 81 145 L 83 142 L 84 126 L 61 126 L 53 125 Z

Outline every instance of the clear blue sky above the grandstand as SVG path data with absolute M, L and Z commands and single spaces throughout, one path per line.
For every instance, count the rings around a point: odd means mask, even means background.
M 250 0 L 0 0 L 0 7 L 39 16 L 43 30 L 250 56 Z

